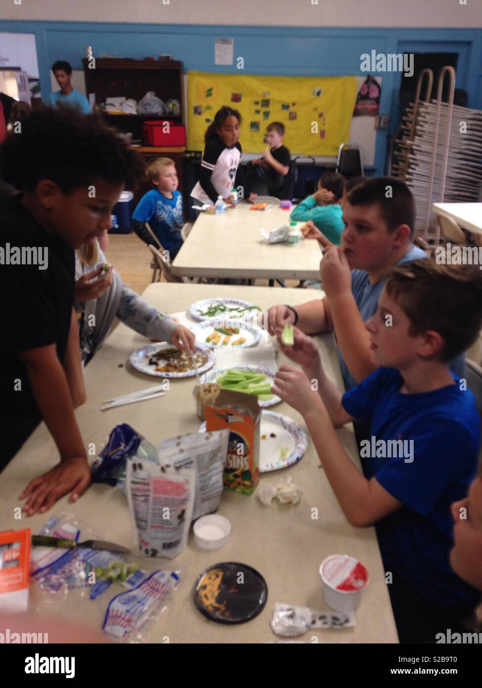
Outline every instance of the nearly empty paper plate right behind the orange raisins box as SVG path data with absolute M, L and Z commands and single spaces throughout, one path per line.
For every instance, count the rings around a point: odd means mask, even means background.
M 199 432 L 206 432 L 206 422 L 201 425 Z M 296 420 L 275 411 L 261 411 L 260 436 L 260 473 L 278 471 L 296 464 L 308 447 L 307 433 Z

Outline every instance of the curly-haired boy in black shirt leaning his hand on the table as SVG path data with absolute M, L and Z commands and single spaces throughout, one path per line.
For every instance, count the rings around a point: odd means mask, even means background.
M 0 206 L 0 470 L 40 420 L 60 463 L 32 480 L 25 513 L 46 511 L 90 469 L 74 407 L 85 400 L 74 301 L 74 249 L 111 226 L 139 163 L 94 115 L 41 109 L 0 149 L 0 174 L 21 193 Z

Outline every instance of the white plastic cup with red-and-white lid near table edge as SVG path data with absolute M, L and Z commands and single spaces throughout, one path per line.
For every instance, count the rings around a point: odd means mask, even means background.
M 362 601 L 362 590 L 369 584 L 369 573 L 358 559 L 331 555 L 320 565 L 326 603 L 337 612 L 355 612 Z

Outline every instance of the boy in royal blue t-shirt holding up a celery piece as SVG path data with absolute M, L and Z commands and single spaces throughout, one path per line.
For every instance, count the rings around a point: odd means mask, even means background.
M 360 385 L 342 394 L 298 329 L 289 356 L 303 370 L 284 365 L 275 378 L 274 393 L 305 418 L 344 515 L 353 526 L 377 526 L 402 643 L 462 629 L 480 597 L 450 568 L 450 504 L 476 473 L 481 431 L 474 396 L 448 362 L 481 326 L 479 270 L 411 261 L 392 268 L 366 323 L 380 367 Z M 360 449 L 366 477 L 333 429 L 354 419 L 371 423 Z

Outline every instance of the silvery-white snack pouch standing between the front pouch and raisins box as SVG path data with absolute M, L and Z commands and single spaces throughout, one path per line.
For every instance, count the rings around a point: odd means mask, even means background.
M 223 470 L 229 431 L 190 433 L 162 440 L 157 458 L 165 469 L 195 471 L 193 520 L 217 510 L 223 491 Z

